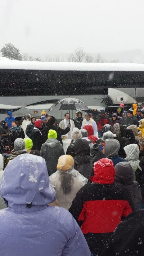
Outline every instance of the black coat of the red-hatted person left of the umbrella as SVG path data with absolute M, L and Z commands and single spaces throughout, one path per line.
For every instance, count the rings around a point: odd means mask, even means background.
M 42 146 L 42 135 L 40 133 L 41 128 L 39 128 L 39 130 L 37 129 L 33 129 L 32 131 L 32 142 L 33 142 L 33 146 L 31 150 L 37 149 L 37 150 L 41 150 L 41 146 Z

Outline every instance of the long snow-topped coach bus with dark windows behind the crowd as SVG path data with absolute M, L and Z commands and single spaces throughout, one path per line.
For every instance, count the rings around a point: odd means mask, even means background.
M 0 59 L 0 120 L 9 110 L 15 118 L 40 116 L 66 97 L 78 98 L 92 110 L 144 102 L 144 65 Z M 61 119 L 64 112 L 50 114 Z

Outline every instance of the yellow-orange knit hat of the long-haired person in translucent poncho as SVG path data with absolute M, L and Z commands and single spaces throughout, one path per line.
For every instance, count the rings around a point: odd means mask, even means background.
M 74 160 L 71 155 L 61 155 L 58 159 L 57 169 L 67 171 L 74 165 Z

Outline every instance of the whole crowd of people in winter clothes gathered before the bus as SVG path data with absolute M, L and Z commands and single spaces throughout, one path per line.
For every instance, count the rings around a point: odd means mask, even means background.
M 59 125 L 44 110 L 19 125 L 8 111 L 0 180 L 2 255 L 142 256 L 143 103 Z

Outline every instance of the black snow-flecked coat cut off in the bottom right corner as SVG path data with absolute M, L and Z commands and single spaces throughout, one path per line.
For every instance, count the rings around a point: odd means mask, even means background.
M 144 210 L 134 211 L 122 221 L 100 256 L 144 255 Z

